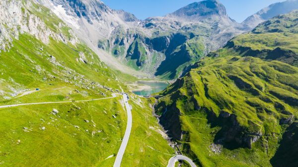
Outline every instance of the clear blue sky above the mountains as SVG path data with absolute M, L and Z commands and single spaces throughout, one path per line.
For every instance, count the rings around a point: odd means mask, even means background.
M 164 16 L 168 13 L 201 0 L 101 0 L 113 9 L 123 9 L 133 13 L 139 19 Z M 220 0 L 226 7 L 227 14 L 237 22 L 244 21 L 268 5 L 285 0 Z

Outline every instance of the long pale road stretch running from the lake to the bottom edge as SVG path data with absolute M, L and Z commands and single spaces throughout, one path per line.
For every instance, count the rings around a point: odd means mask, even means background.
M 128 103 L 128 97 L 126 94 L 123 94 L 123 102 L 127 111 L 127 126 L 126 126 L 126 130 L 125 130 L 125 135 L 123 137 L 120 149 L 118 151 L 115 163 L 113 167 L 120 167 L 122 159 L 123 159 L 123 155 L 131 134 L 131 130 L 132 130 L 132 124 L 133 124 L 133 117 L 132 117 L 132 111 L 131 111 L 131 107 Z

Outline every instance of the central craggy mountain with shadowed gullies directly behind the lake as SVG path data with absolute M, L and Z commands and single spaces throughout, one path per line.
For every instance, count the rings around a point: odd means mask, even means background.
M 228 17 L 218 0 L 194 2 L 127 27 L 115 26 L 98 47 L 136 70 L 163 79 L 181 76 L 201 57 L 245 30 Z

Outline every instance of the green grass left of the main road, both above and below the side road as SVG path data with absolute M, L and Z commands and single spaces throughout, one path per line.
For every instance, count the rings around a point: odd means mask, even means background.
M 0 54 L 1 105 L 91 100 L 111 96 L 111 89 L 119 89 L 113 71 L 83 45 L 55 41 L 44 45 L 27 34 L 13 45 Z M 76 60 L 80 52 L 87 63 Z M 40 91 L 20 96 L 35 88 Z M 111 166 L 113 159 L 104 159 L 118 152 L 126 127 L 120 100 L 1 109 L 3 165 Z M 59 114 L 51 114 L 53 109 Z

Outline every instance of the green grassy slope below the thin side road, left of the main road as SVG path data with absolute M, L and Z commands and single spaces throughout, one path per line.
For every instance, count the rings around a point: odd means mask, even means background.
M 112 166 L 115 158 L 105 159 L 117 154 L 126 126 L 120 100 L 1 109 L 2 166 Z

